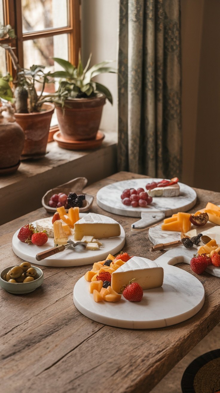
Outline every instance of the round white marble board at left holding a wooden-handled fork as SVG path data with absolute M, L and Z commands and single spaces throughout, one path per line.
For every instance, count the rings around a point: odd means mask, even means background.
M 85 216 L 86 213 L 80 213 L 80 218 Z M 105 217 L 100 215 L 102 218 Z M 52 216 L 51 216 L 52 219 Z M 115 221 L 115 220 L 113 220 Z M 115 221 L 117 222 L 117 221 Z M 32 222 L 35 225 L 35 222 Z M 45 250 L 49 250 L 49 248 L 54 247 L 54 239 L 52 237 L 48 238 L 48 241 L 44 246 L 35 246 L 35 244 L 26 244 L 21 242 L 18 239 L 17 230 L 13 235 L 12 239 L 12 249 L 18 257 L 24 259 L 24 261 L 28 261 L 30 263 L 35 263 L 41 266 L 56 266 L 56 267 L 64 267 L 64 266 L 81 266 L 87 265 L 98 261 L 103 261 L 106 256 L 111 254 L 116 254 L 120 252 L 125 244 L 125 231 L 124 228 L 120 225 L 121 234 L 118 237 L 111 237 L 109 239 L 101 239 L 104 247 L 100 247 L 98 250 L 85 250 L 85 246 L 76 246 L 73 248 L 67 248 L 66 250 L 59 252 L 55 255 L 51 255 L 42 261 L 36 260 L 36 254 Z M 73 240 L 71 236 L 69 239 Z

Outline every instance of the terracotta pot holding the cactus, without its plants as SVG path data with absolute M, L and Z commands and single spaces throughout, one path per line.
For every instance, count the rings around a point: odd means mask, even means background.
M 42 112 L 15 113 L 17 123 L 25 134 L 22 157 L 42 157 L 46 154 L 51 117 L 54 104 L 44 103 Z

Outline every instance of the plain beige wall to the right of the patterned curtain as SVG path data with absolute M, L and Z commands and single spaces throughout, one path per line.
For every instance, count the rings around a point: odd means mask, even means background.
M 182 180 L 220 191 L 220 1 L 182 0 L 181 6 Z

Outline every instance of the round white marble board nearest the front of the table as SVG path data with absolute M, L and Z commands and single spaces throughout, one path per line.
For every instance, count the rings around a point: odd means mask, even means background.
M 149 261 L 146 259 L 146 261 Z M 76 308 L 88 318 L 105 325 L 126 329 L 153 329 L 175 325 L 191 318 L 204 304 L 204 287 L 192 274 L 175 265 L 185 257 L 161 255 L 155 260 L 164 268 L 162 287 L 144 290 L 140 303 L 122 296 L 116 303 L 96 303 L 89 293 L 89 283 L 81 277 L 73 290 Z

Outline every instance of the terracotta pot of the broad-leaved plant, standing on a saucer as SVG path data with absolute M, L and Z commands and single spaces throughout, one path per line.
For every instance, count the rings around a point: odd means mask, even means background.
M 64 109 L 56 106 L 60 132 L 68 140 L 84 141 L 96 138 L 105 96 L 66 100 Z

